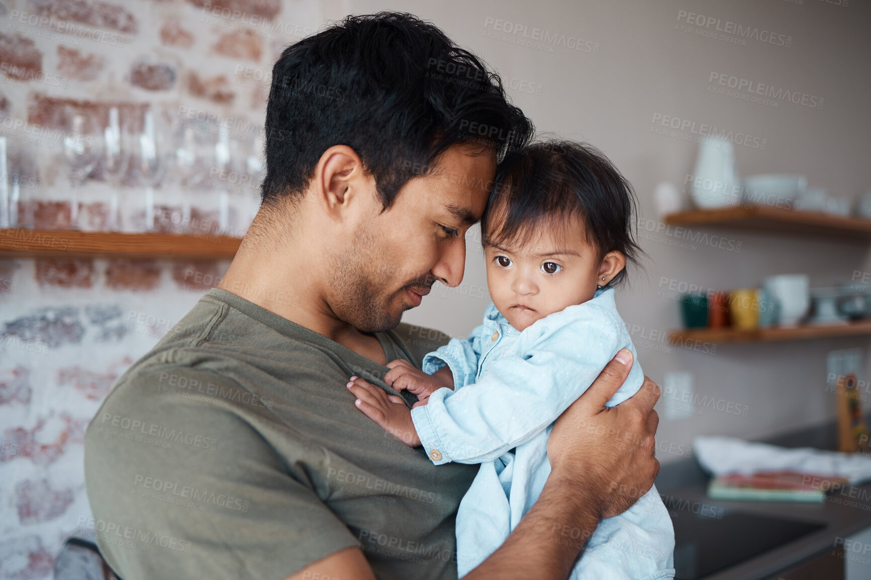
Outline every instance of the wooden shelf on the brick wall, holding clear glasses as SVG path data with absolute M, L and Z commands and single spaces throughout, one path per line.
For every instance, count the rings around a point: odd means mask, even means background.
M 0 230 L 0 256 L 114 256 L 231 259 L 239 237 L 114 231 Z

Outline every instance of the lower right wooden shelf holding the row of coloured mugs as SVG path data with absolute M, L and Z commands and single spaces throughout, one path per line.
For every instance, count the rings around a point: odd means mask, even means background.
M 669 343 L 683 344 L 692 339 L 703 343 L 773 343 L 813 338 L 857 337 L 871 335 L 871 320 L 847 324 L 805 324 L 792 328 L 772 327 L 756 330 L 685 329 L 671 330 Z

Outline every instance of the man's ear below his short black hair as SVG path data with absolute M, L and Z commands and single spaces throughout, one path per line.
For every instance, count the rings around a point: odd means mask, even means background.
M 323 152 L 315 165 L 307 197 L 321 205 L 327 215 L 341 220 L 352 203 L 371 195 L 368 192 L 371 180 L 356 151 L 348 145 L 334 145 Z

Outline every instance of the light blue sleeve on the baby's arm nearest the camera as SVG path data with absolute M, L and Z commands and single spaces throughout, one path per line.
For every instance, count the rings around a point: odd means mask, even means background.
M 636 354 L 624 324 L 607 310 L 582 304 L 572 315 L 562 326 L 543 324 L 537 336 L 518 339 L 527 343 L 518 343 L 517 356 L 500 358 L 477 383 L 438 390 L 411 410 L 415 439 L 433 463 L 483 463 L 529 441 L 589 388 L 618 350 Z M 636 362 L 608 406 L 643 382 Z

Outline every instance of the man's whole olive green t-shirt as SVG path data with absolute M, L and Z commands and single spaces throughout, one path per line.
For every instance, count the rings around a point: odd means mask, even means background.
M 419 366 L 445 335 L 376 334 Z M 478 466 L 435 466 L 354 406 L 387 367 L 210 290 L 106 397 L 85 436 L 87 524 L 124 580 L 280 580 L 358 546 L 384 580 L 456 578 Z M 416 397 L 403 392 L 406 401 Z

